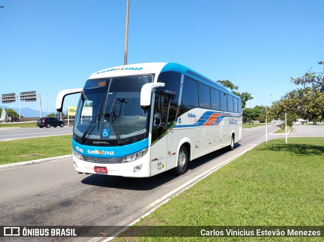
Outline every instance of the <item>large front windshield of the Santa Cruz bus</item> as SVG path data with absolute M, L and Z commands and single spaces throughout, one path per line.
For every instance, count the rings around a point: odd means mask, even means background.
M 141 88 L 152 79 L 141 75 L 88 80 L 78 103 L 74 135 L 81 142 L 104 139 L 111 141 L 105 144 L 121 145 L 139 141 L 134 137 L 148 130 L 148 111 L 140 106 Z

